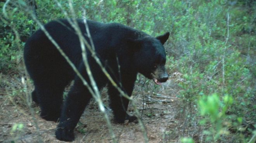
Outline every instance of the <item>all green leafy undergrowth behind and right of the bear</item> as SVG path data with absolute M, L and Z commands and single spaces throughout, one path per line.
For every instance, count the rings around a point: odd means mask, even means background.
M 24 42 L 38 29 L 22 8 L 23 1 L 9 5 L 7 17 L 0 15 L 3 74 L 19 72 Z M 54 0 L 36 2 L 42 23 L 66 17 Z M 58 2 L 71 17 L 68 1 Z M 202 127 L 198 132 L 204 133 L 205 141 L 246 142 L 255 136 L 256 2 L 73 0 L 73 7 L 78 18 L 85 9 L 88 19 L 119 22 L 151 35 L 170 31 L 166 67 L 170 74 L 183 74 L 177 88 L 187 126 Z M 192 138 L 181 141 L 198 141 Z

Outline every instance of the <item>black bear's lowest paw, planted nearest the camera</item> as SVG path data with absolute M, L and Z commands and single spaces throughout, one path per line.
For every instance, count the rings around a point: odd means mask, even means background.
M 57 128 L 55 131 L 56 138 L 61 141 L 73 141 L 74 131 L 67 130 L 65 128 Z

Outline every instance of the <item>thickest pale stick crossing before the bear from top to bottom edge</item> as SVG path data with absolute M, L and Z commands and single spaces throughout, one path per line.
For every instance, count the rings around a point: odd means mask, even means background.
M 69 8 L 71 8 L 71 13 L 72 13 L 72 16 L 73 18 L 75 17 L 75 14 L 74 14 L 74 9 L 73 9 L 73 5 L 72 5 L 72 0 L 69 0 Z M 92 76 L 92 71 L 90 69 L 90 66 L 89 66 L 89 63 L 88 63 L 88 59 L 87 59 L 87 54 L 86 54 L 86 49 L 85 49 L 85 43 L 83 42 L 83 34 L 81 33 L 81 30 L 79 29 L 79 26 L 78 26 L 78 23 L 76 20 L 74 20 L 74 24 L 75 24 L 75 30 L 78 34 L 78 37 L 79 37 L 79 40 L 80 40 L 80 45 L 81 45 L 81 49 L 82 49 L 82 57 L 83 57 L 83 62 L 85 64 L 85 68 L 86 68 L 86 72 L 90 78 L 90 81 L 91 81 L 91 84 L 92 84 L 92 87 L 93 87 L 93 90 L 94 90 L 94 93 L 95 93 L 95 100 L 97 101 L 98 103 L 98 106 L 100 108 L 100 111 L 104 114 L 104 118 L 107 122 L 107 126 L 108 126 L 108 129 L 109 129 L 109 132 L 111 134 L 111 138 L 112 138 L 112 141 L 114 143 L 117 143 L 117 140 L 116 140 L 116 137 L 114 135 L 114 132 L 113 132 L 113 129 L 112 129 L 112 126 L 111 126 L 111 122 L 107 116 L 107 113 L 105 111 L 105 108 L 104 108 L 104 105 L 102 103 L 102 100 L 100 98 L 100 92 L 99 92 L 99 89 L 97 87 L 97 84 Z M 88 34 L 88 32 L 86 32 Z M 90 35 L 90 34 L 88 34 Z M 92 44 L 92 40 L 91 41 L 91 44 Z

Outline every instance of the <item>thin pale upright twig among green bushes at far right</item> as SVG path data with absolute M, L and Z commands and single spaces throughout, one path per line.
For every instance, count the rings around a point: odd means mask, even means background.
M 227 13 L 227 38 L 225 42 L 225 48 L 223 52 L 223 58 L 222 58 L 222 94 L 224 95 L 224 86 L 225 86 L 225 54 L 226 54 L 226 49 L 227 49 L 227 43 L 228 43 L 228 38 L 229 38 L 229 10 Z

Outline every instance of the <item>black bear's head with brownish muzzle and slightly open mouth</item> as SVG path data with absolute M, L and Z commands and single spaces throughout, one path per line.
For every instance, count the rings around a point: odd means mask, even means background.
M 164 67 L 166 54 L 163 44 L 168 39 L 170 33 L 166 32 L 156 38 L 146 36 L 133 40 L 133 47 L 136 48 L 133 54 L 134 65 L 138 72 L 161 85 L 166 82 L 168 74 Z

